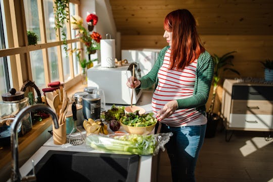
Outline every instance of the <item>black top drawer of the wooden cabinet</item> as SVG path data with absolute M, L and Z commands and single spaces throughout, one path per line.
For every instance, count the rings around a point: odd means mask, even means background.
M 233 85 L 234 100 L 268 100 L 273 101 L 273 86 Z

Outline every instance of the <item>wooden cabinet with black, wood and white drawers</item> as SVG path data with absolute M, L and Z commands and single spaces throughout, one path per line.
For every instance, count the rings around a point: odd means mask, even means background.
M 273 84 L 225 79 L 221 116 L 226 130 L 273 131 Z

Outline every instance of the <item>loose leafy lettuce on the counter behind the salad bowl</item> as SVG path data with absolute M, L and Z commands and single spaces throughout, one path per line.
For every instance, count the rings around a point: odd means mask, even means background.
M 124 108 L 125 106 L 115 106 L 113 104 L 110 110 L 101 115 L 101 118 L 105 119 L 106 121 L 111 121 L 112 119 L 119 121 L 121 116 L 125 114 Z

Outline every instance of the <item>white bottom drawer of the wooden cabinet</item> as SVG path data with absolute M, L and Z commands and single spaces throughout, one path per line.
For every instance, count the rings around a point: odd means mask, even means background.
M 272 129 L 273 116 L 263 114 L 231 114 L 229 127 Z

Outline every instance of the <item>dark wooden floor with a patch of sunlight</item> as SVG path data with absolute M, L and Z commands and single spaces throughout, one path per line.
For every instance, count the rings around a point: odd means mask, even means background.
M 225 130 L 217 129 L 215 138 L 204 141 L 197 161 L 196 181 L 272 182 L 273 139 L 265 141 L 265 134 L 268 133 L 234 131 L 230 142 L 225 142 Z M 158 181 L 171 181 L 166 151 L 160 154 L 159 164 Z

